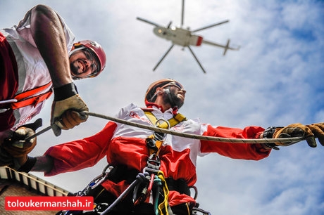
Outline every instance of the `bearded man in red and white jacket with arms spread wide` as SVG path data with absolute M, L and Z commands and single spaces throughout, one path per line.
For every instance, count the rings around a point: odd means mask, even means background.
M 222 138 L 301 136 L 306 138 L 311 147 L 316 147 L 315 138 L 318 138 L 322 145 L 324 144 L 323 123 L 308 126 L 291 124 L 265 130 L 260 126 L 247 126 L 244 129 L 214 127 L 201 123 L 198 119 L 186 119 L 177 113 L 184 104 L 185 93 L 183 86 L 173 79 L 158 80 L 147 90 L 145 96 L 147 107 L 141 108 L 130 104 L 122 108 L 116 117 L 148 126 L 157 125 L 156 119 L 164 119 L 168 121 L 168 129 L 171 131 L 202 136 Z M 168 185 L 167 202 L 172 210 L 169 209 L 168 213 L 192 214 L 196 201 L 189 195 L 189 187 L 197 181 L 198 156 L 217 152 L 233 159 L 259 160 L 268 157 L 272 148 L 277 148 L 278 145 L 285 145 L 285 143 L 232 144 L 206 141 L 170 134 L 164 136 L 163 133 L 137 126 L 108 122 L 104 129 L 94 136 L 52 146 L 42 157 L 28 157 L 28 162 L 22 164 L 23 168 L 20 170 L 44 171 L 45 176 L 54 176 L 92 167 L 106 156 L 108 164 L 114 168 L 106 181 L 89 192 L 94 195 L 95 202 L 112 204 L 132 181 L 135 181 L 137 174 L 146 171 L 151 174 L 156 171 L 162 173 L 162 179 L 164 178 Z M 11 152 L 13 148 L 9 147 L 8 151 Z M 24 156 L 27 157 L 27 154 L 25 153 Z M 142 190 L 139 189 L 139 193 L 140 191 Z M 154 214 L 154 204 L 150 202 L 151 195 L 145 195 L 143 198 L 139 193 L 135 192 L 133 195 L 131 192 L 109 214 Z M 163 212 L 160 211 L 160 214 Z

